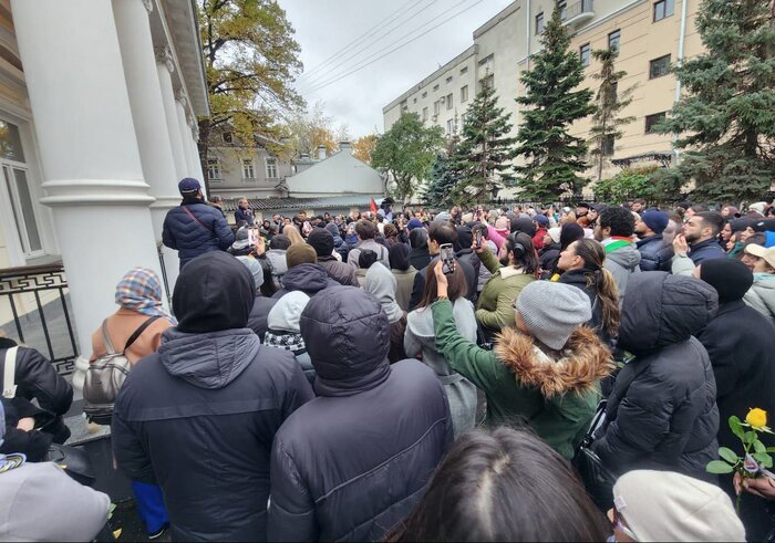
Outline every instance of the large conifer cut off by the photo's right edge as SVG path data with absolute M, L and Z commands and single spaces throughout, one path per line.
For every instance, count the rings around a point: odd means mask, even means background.
M 681 134 L 663 189 L 690 180 L 702 200 L 760 200 L 775 180 L 775 4 L 704 0 L 705 53 L 675 66 L 684 95 L 660 132 Z

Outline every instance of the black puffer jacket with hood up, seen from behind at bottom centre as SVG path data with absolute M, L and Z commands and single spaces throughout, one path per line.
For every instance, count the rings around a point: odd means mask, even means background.
M 379 541 L 420 501 L 452 440 L 450 409 L 424 364 L 388 362 L 388 316 L 353 286 L 301 315 L 318 398 L 272 447 L 270 541 Z

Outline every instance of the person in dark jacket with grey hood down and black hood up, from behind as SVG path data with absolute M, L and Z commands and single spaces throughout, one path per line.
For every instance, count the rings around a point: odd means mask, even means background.
M 245 327 L 255 295 L 234 257 L 192 260 L 175 284 L 177 327 L 135 365 L 115 404 L 118 468 L 162 487 L 174 541 L 267 537 L 272 439 L 313 394 L 291 352 Z

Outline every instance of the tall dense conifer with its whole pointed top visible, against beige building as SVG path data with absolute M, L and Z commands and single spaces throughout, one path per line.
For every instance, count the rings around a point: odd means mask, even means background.
M 590 104 L 592 92 L 577 90 L 583 81 L 583 65 L 570 49 L 557 3 L 540 43 L 542 50 L 533 58 L 534 67 L 520 77 L 526 93 L 516 98 L 524 106 L 517 153 L 526 161 L 517 168 L 517 185 L 525 197 L 547 201 L 564 191 L 578 194 L 588 182 L 578 175 L 587 169 L 587 144 L 568 130 L 595 108 Z

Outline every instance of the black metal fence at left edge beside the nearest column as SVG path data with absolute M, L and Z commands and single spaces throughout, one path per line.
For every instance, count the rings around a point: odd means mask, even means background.
M 78 342 L 61 263 L 0 270 L 0 315 L 9 314 L 7 336 L 48 355 L 60 374 L 73 372 Z

